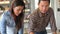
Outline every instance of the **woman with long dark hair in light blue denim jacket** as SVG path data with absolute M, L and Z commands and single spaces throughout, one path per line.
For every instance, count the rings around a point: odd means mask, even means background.
M 0 22 L 1 34 L 23 34 L 24 8 L 23 1 L 13 1 L 11 8 L 2 15 Z

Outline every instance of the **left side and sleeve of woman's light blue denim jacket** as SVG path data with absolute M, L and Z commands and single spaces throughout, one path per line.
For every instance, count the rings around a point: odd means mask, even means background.
M 10 11 L 4 12 L 0 19 L 1 34 L 6 34 L 6 26 L 15 27 L 15 21 Z

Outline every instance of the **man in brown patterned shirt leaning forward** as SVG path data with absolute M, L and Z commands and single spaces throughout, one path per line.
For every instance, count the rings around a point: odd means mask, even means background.
M 51 25 L 52 33 L 57 34 L 54 12 L 49 5 L 50 0 L 39 0 L 38 8 L 29 18 L 29 34 L 47 34 L 46 27 L 48 23 Z

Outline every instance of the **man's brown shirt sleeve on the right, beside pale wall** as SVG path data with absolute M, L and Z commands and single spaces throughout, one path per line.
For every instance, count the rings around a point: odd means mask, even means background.
M 57 30 L 56 21 L 55 21 L 54 12 L 52 9 L 51 9 L 51 16 L 50 16 L 50 26 L 51 26 L 52 32 L 56 32 Z

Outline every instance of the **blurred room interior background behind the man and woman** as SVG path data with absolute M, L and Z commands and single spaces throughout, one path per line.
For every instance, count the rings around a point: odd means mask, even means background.
M 28 34 L 28 15 L 33 12 L 38 7 L 38 0 L 23 0 L 25 2 L 25 19 L 24 19 L 24 34 Z M 54 15 L 56 19 L 57 34 L 60 34 L 60 0 L 50 0 L 50 7 L 54 10 Z M 0 0 L 0 17 L 2 13 L 7 11 L 11 6 L 12 0 Z M 47 33 L 52 34 L 50 25 L 46 27 Z

